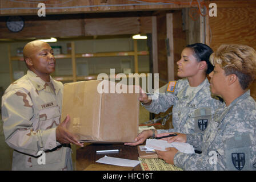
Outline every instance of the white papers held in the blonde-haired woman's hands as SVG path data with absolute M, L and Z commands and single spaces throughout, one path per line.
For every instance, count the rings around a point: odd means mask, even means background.
M 166 140 L 157 140 L 157 139 L 147 139 L 146 140 L 146 148 L 153 148 L 155 150 L 166 151 L 165 148 L 174 147 L 178 151 L 186 153 L 186 154 L 194 154 L 194 147 L 189 143 L 180 143 L 173 142 L 168 143 Z

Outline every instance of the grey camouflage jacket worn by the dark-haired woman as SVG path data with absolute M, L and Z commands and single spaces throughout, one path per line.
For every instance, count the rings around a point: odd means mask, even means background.
M 159 91 L 157 100 L 152 100 L 151 104 L 143 105 L 151 113 L 165 112 L 173 105 L 173 127 L 169 130 L 157 130 L 157 133 L 178 132 L 178 133 L 202 133 L 210 121 L 213 111 L 218 106 L 219 100 L 211 97 L 210 84 L 207 78 L 198 85 L 197 92 L 192 92 L 186 96 L 186 90 L 189 88 L 187 78 L 178 80 L 169 92 L 167 85 L 159 90 L 165 89 L 165 93 Z

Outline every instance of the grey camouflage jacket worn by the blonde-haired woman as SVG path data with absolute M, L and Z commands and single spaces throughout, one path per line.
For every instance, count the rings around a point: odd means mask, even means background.
M 248 90 L 229 106 L 219 106 L 205 135 L 188 134 L 187 143 L 202 154 L 174 156 L 185 170 L 256 170 L 256 103 Z

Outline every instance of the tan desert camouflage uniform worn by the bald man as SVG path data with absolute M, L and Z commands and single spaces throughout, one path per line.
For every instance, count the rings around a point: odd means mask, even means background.
M 71 148 L 56 141 L 63 84 L 53 80 L 55 92 L 32 71 L 11 84 L 2 97 L 3 131 L 13 152 L 13 170 L 73 169 Z M 45 152 L 46 164 L 39 165 Z

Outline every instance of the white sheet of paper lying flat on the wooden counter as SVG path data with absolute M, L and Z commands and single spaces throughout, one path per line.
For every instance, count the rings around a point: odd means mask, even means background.
M 139 163 L 139 160 L 130 160 L 130 159 L 121 159 L 121 158 L 113 158 L 109 156 L 103 156 L 103 158 L 96 161 L 97 163 L 110 164 L 115 166 L 125 166 L 125 167 L 135 167 Z

